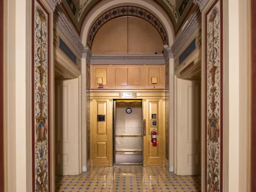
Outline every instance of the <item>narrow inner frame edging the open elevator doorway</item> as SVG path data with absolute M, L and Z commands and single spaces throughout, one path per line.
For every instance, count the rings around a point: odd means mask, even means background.
M 115 163 L 116 162 L 116 100 L 131 100 L 131 99 L 114 99 L 113 100 L 113 165 L 142 165 L 144 162 L 144 135 L 143 135 L 143 120 L 144 120 L 144 104 L 142 99 L 136 99 L 141 100 L 142 102 L 142 163 Z M 134 100 L 134 101 L 136 101 Z

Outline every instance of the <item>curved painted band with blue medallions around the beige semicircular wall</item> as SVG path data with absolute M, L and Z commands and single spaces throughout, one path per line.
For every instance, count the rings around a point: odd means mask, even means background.
M 145 9 L 136 7 L 136 6 L 120 6 L 116 8 L 112 8 L 111 10 L 108 10 L 104 14 L 102 14 L 92 25 L 89 35 L 88 35 L 88 40 L 87 44 L 91 48 L 92 47 L 92 42 L 94 40 L 95 35 L 97 34 L 98 30 L 107 22 L 114 18 L 118 17 L 124 17 L 124 16 L 134 16 L 138 18 L 142 18 L 143 20 L 146 20 L 156 30 L 159 32 L 159 34 L 162 37 L 164 45 L 168 45 L 168 38 L 167 38 L 167 33 L 162 25 L 162 23 L 150 12 L 148 12 Z

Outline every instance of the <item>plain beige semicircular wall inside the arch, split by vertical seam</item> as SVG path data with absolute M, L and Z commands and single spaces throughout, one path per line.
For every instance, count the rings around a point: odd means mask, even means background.
M 163 40 L 148 22 L 121 17 L 108 22 L 97 32 L 93 54 L 162 54 Z

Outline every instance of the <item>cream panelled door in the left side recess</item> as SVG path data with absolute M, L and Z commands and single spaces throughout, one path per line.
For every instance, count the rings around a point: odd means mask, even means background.
M 56 174 L 79 174 L 78 78 L 55 80 Z

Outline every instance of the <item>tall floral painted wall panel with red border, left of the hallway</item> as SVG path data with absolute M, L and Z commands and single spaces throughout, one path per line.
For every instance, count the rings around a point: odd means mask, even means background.
M 32 149 L 33 190 L 50 189 L 50 34 L 49 13 L 33 1 L 32 20 Z

